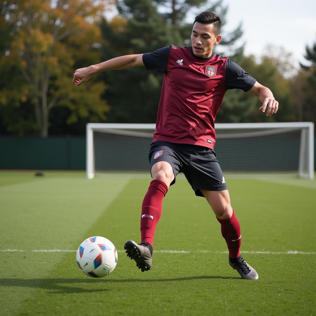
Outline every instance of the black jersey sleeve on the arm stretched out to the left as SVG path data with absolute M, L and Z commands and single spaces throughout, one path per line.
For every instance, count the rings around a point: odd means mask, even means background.
M 146 69 L 166 72 L 171 46 L 160 48 L 152 53 L 143 54 L 143 63 Z

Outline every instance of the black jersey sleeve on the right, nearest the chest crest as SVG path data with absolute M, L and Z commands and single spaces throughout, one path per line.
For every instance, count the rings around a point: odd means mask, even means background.
M 255 83 L 256 79 L 252 78 L 245 70 L 228 58 L 225 77 L 227 89 L 242 89 L 247 92 Z

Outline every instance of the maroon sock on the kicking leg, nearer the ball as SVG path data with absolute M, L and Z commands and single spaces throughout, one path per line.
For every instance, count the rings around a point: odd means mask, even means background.
M 142 242 L 153 245 L 157 223 L 162 212 L 162 199 L 168 191 L 167 185 L 160 180 L 152 180 L 144 197 L 140 231 Z

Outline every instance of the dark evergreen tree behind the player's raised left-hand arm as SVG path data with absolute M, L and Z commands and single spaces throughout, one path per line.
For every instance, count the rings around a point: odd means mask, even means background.
M 152 52 L 169 46 L 174 35 L 166 20 L 150 0 L 125 0 L 118 6 L 120 15 L 101 23 L 103 44 L 101 61 L 121 55 Z M 104 98 L 110 105 L 108 122 L 155 122 L 163 75 L 144 67 L 106 71 L 108 86 Z

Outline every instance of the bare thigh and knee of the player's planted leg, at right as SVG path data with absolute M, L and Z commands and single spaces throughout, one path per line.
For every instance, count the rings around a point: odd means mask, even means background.
M 233 209 L 230 205 L 228 190 L 208 191 L 200 189 L 207 202 L 210 204 L 214 214 L 219 219 L 229 219 L 233 215 Z

